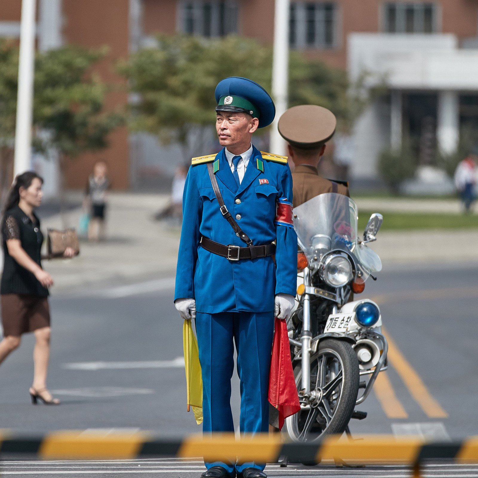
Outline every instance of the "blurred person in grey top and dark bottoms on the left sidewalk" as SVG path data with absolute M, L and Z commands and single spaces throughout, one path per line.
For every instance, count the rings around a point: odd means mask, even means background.
M 106 237 L 106 206 L 108 190 L 108 166 L 98 161 L 93 167 L 93 174 L 88 177 L 85 191 L 85 207 L 90 211 L 88 240 L 98 241 Z

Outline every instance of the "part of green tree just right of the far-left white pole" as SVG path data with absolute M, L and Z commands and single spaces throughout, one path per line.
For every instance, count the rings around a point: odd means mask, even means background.
M 117 112 L 105 112 L 108 85 L 91 73 L 105 51 L 65 46 L 38 54 L 35 62 L 34 145 L 56 150 L 61 177 L 67 161 L 108 146 L 109 133 L 122 123 Z

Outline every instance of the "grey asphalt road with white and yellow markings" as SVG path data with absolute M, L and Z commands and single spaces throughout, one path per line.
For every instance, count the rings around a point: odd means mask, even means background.
M 172 285 L 172 279 L 163 278 L 53 295 L 49 385 L 63 404 L 30 404 L 33 337 L 25 336 L 22 347 L 0 368 L 0 426 L 24 433 L 123 429 L 177 436 L 198 432 L 192 413 L 185 411 L 182 323 L 172 304 Z M 369 416 L 353 422 L 352 433 L 421 434 L 437 439 L 476 435 L 477 265 L 385 270 L 377 282 L 367 283 L 365 294 L 380 303 L 391 339 L 390 368 L 360 406 Z M 233 407 L 238 410 L 237 381 L 233 394 Z M 197 463 L 176 460 L 3 464 L 5 476 L 141 473 L 168 478 L 197 476 L 200 469 Z M 271 467 L 270 474 L 308 472 Z M 408 476 L 397 467 L 359 471 L 320 467 L 313 474 Z M 431 467 L 426 476 L 478 477 L 478 468 Z

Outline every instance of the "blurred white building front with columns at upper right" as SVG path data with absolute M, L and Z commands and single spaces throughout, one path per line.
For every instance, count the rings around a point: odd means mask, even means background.
M 405 137 L 428 135 L 432 147 L 452 153 L 460 128 L 478 126 L 478 48 L 458 48 L 453 34 L 351 33 L 348 74 L 389 91 L 356 124 L 354 178 L 377 177 L 380 152 L 400 148 Z

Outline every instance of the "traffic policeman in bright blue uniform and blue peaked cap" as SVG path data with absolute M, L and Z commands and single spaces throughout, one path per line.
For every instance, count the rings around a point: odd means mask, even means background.
M 294 303 L 292 175 L 286 157 L 251 144 L 252 134 L 274 119 L 269 94 L 249 79 L 230 77 L 215 96 L 223 149 L 193 158 L 187 174 L 174 302 L 184 319 L 196 318 L 203 432 L 234 432 L 235 343 L 240 431 L 256 434 L 268 431 L 274 316 L 286 319 Z M 201 476 L 261 478 L 264 467 L 206 463 Z

